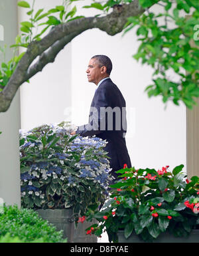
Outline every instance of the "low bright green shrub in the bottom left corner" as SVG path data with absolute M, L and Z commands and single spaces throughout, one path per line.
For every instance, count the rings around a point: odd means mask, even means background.
M 1 243 L 66 243 L 62 233 L 32 209 L 5 206 L 0 213 Z

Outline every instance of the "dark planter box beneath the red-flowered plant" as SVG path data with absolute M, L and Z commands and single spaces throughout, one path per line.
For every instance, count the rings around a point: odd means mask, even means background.
M 124 231 L 119 231 L 119 243 L 145 243 L 138 235 L 132 234 L 128 239 L 125 239 Z M 174 237 L 169 233 L 161 233 L 153 243 L 199 243 L 199 229 L 193 229 L 188 237 Z

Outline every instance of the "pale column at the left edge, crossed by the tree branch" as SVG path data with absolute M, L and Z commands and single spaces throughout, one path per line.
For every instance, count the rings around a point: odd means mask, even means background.
M 13 57 L 10 45 L 17 36 L 17 0 L 0 0 L 0 24 L 4 35 L 0 46 L 7 45 L 6 61 Z M 0 55 L 0 63 L 3 61 Z M 0 102 L 1 104 L 1 102 Z M 7 112 L 0 113 L 0 197 L 7 205 L 21 205 L 20 164 L 19 164 L 19 128 L 20 94 L 15 95 Z

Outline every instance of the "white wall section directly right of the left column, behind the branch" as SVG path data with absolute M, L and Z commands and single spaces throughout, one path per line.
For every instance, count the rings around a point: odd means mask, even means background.
M 33 3 L 29 1 L 29 3 Z M 62 0 L 35 1 L 34 9 L 48 11 Z M 19 8 L 19 22 L 29 20 L 27 9 Z M 42 21 L 43 22 L 43 21 Z M 44 27 L 42 27 L 43 29 Z M 66 119 L 64 110 L 71 106 L 71 45 L 21 86 L 21 128 L 31 129 L 41 124 L 58 123 Z

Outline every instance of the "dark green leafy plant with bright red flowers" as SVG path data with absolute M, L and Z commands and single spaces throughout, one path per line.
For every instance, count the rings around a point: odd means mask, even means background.
M 197 176 L 188 181 L 183 165 L 172 172 L 169 166 L 158 171 L 125 167 L 117 171 L 121 180 L 111 185 L 110 198 L 101 211 L 90 211 L 85 218 L 99 221 L 87 229 L 88 234 L 100 236 L 105 230 L 109 241 L 117 242 L 117 232 L 123 229 L 126 239 L 135 233 L 144 241 L 153 241 L 165 231 L 186 236 L 199 228 Z

